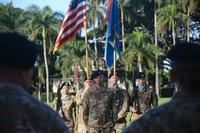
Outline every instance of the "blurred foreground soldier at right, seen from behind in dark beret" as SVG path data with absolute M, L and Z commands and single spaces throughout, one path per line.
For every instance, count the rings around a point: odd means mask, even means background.
M 167 55 L 177 86 L 172 100 L 133 122 L 124 133 L 200 132 L 200 45 L 179 42 Z

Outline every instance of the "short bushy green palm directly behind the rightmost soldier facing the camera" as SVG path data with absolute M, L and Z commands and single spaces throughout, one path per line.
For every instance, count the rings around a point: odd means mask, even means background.
M 143 66 L 152 67 L 154 65 L 155 54 L 158 48 L 150 44 L 150 38 L 145 29 L 135 28 L 132 34 L 126 38 L 129 46 L 122 53 L 122 60 L 126 66 L 132 69 L 133 60 L 137 61 L 139 71 L 143 71 Z M 146 64 L 144 64 L 146 63 Z

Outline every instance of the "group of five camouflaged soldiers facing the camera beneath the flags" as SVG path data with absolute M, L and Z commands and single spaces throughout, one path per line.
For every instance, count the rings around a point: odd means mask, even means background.
M 54 99 L 54 110 L 64 119 L 71 132 L 120 133 L 126 127 L 129 111 L 131 121 L 134 121 L 156 107 L 158 98 L 154 88 L 147 86 L 143 72 L 136 75 L 136 86 L 131 95 L 119 87 L 119 79 L 118 73 L 114 77 L 111 72 L 106 80 L 102 71 L 96 70 L 88 79 L 84 79 L 84 87 L 75 97 L 69 93 L 70 85 L 63 83 Z M 108 84 L 104 81 L 108 81 Z

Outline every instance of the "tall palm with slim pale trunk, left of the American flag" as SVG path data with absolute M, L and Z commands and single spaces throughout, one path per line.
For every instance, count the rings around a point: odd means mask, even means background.
M 49 67 L 47 61 L 47 47 L 46 43 L 49 43 L 51 34 L 57 33 L 59 25 L 57 20 L 54 18 L 54 14 L 48 6 L 44 7 L 42 10 L 39 10 L 37 6 L 31 6 L 28 8 L 28 11 L 25 12 L 28 14 L 29 19 L 26 23 L 22 24 L 21 28 L 24 33 L 28 33 L 30 40 L 37 40 L 42 38 L 43 45 L 43 56 L 45 64 L 45 73 L 46 73 L 46 91 L 47 91 L 47 103 L 49 103 Z

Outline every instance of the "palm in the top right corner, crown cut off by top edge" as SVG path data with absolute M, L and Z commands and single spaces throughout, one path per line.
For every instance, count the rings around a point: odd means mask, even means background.
M 190 20 L 191 20 L 191 13 L 195 11 L 198 5 L 198 0 L 181 0 L 180 4 L 182 6 L 182 10 L 184 14 L 187 15 L 186 17 L 186 40 L 187 42 L 190 41 L 190 31 L 189 31 L 189 25 L 190 25 Z

